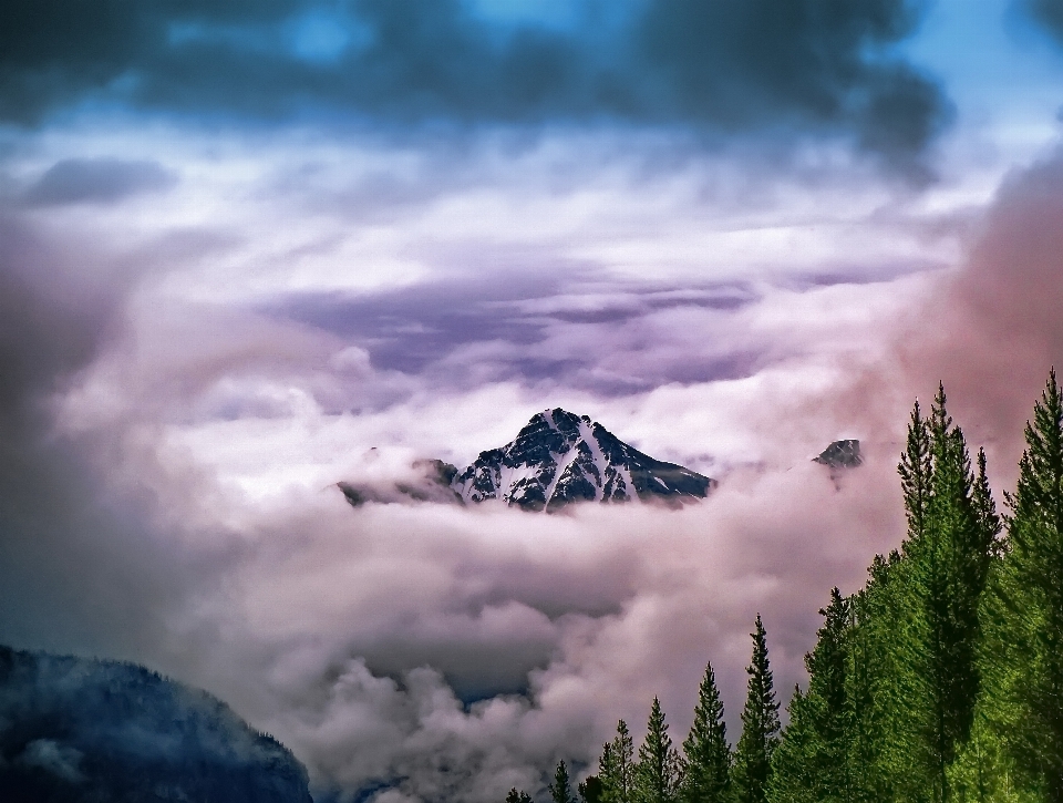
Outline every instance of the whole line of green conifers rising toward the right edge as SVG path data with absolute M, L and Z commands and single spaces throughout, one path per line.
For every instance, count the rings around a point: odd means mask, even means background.
M 908 532 L 864 588 L 834 588 L 807 688 L 781 729 L 756 617 L 732 747 L 712 666 L 677 747 L 654 698 L 598 772 L 554 803 L 1063 803 L 1063 397 L 1053 370 L 1025 428 L 1005 511 L 939 387 L 915 404 L 898 465 Z M 516 789 L 506 803 L 532 803 Z

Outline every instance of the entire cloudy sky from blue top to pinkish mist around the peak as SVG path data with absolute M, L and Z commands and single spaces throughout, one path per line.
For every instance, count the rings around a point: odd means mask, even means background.
M 0 642 L 145 663 L 321 800 L 543 796 L 708 661 L 732 740 L 1063 354 L 1057 0 L 9 0 Z M 350 507 L 590 415 L 720 482 Z M 857 437 L 865 465 L 809 459 Z

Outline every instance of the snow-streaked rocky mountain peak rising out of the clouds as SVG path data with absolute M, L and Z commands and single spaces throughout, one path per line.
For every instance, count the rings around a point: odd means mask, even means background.
M 546 410 L 502 449 L 481 452 L 451 481 L 466 503 L 504 500 L 530 511 L 571 502 L 704 497 L 715 481 L 629 446 L 586 415 Z

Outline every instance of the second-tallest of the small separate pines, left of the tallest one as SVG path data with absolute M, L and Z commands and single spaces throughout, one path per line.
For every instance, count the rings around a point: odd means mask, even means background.
M 731 748 L 723 721 L 723 702 L 712 665 L 705 667 L 698 690 L 694 722 L 683 742 L 687 771 L 680 796 L 683 803 L 724 803 L 731 786 Z

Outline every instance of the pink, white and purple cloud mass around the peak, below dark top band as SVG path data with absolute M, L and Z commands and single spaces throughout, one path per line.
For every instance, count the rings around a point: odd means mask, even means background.
M 1063 158 L 906 181 L 837 143 L 505 127 L 123 127 L 4 144 L 0 639 L 127 658 L 280 738 L 320 794 L 498 801 L 595 766 L 752 622 L 781 701 L 899 545 L 939 379 L 998 490 L 1063 348 Z M 937 194 L 937 195 L 936 195 Z M 368 504 L 534 413 L 720 480 L 681 509 Z M 866 464 L 811 462 L 858 437 Z

